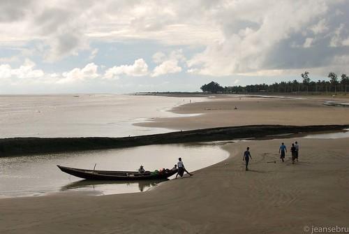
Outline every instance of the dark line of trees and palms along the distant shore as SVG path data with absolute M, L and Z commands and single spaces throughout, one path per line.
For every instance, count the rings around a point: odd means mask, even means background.
M 337 77 L 336 73 L 330 72 L 328 74 L 329 80 L 317 80 L 313 81 L 309 78 L 309 72 L 305 71 L 301 74 L 302 82 L 297 80 L 275 82 L 272 85 L 259 84 L 259 85 L 246 85 L 246 86 L 228 86 L 222 87 L 217 82 L 209 82 L 202 85 L 200 89 L 202 92 L 207 93 L 224 93 L 224 94 L 239 94 L 239 93 L 292 93 L 292 92 L 315 92 L 315 93 L 328 93 L 328 92 L 349 92 L 349 78 L 348 75 L 342 74 L 341 80 Z

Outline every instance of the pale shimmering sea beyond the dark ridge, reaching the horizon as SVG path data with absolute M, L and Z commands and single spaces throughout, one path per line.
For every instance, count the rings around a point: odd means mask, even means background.
M 168 110 L 204 100 L 116 94 L 0 96 L 0 138 L 165 133 L 170 130 L 133 126 L 133 123 L 157 117 L 186 117 Z

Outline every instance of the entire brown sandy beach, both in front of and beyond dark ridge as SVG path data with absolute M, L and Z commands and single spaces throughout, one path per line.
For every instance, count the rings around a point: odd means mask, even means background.
M 237 106 L 237 110 L 234 107 Z M 216 98 L 147 126 L 199 129 L 245 124 L 349 124 L 349 108 L 322 100 Z M 298 140 L 299 162 L 279 161 L 279 145 Z M 223 145 L 225 161 L 143 193 L 0 199 L 0 233 L 306 233 L 348 227 L 349 138 L 288 138 Z M 242 153 L 251 147 L 250 170 Z M 276 163 L 267 163 L 276 161 Z M 185 163 L 185 158 L 184 158 Z M 188 168 L 190 170 L 190 168 Z

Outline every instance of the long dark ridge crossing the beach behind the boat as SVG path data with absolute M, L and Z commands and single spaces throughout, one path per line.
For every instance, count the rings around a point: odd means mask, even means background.
M 3 138 L 0 139 L 0 157 L 28 154 L 74 152 L 91 149 L 113 149 L 141 145 L 174 144 L 184 142 L 207 142 L 214 140 L 237 140 L 261 138 L 283 133 L 309 133 L 316 131 L 338 131 L 349 125 L 248 125 L 213 129 L 175 131 L 170 133 L 131 136 L 122 138 Z

